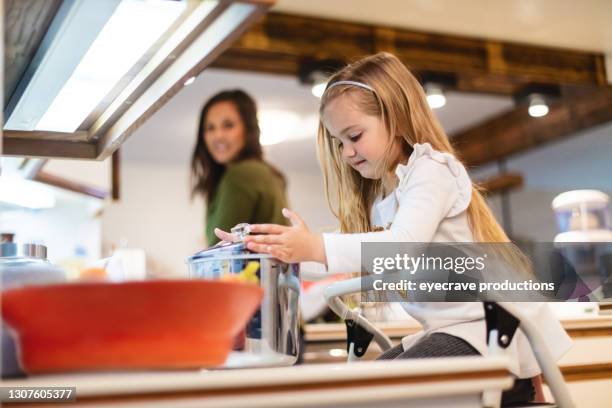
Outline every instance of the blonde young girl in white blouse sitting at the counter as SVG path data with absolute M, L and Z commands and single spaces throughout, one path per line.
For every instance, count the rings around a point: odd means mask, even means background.
M 361 270 L 362 242 L 509 242 L 456 158 L 420 84 L 396 57 L 377 54 L 336 73 L 321 99 L 320 116 L 320 162 L 341 233 L 313 233 L 284 209 L 292 226 L 253 225 L 260 235 L 246 239 L 249 249 L 345 273 Z M 402 305 L 424 330 L 382 358 L 487 353 L 482 303 Z M 546 304 L 525 305 L 559 358 L 569 337 Z M 518 378 L 540 373 L 520 331 L 508 352 Z M 530 400 L 533 392 L 531 380 L 517 381 L 504 403 Z

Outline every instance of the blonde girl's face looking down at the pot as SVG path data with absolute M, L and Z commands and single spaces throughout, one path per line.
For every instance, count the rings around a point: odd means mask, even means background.
M 350 93 L 344 93 L 325 107 L 323 124 L 339 144 L 342 159 L 362 177 L 380 179 L 378 164 L 385 155 L 389 133 L 383 121 L 359 109 Z M 392 153 L 399 150 L 394 144 Z

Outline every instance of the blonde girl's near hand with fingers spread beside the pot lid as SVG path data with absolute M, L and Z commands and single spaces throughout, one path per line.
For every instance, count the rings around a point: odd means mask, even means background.
M 254 252 L 267 253 L 286 262 L 314 261 L 326 264 L 323 236 L 310 232 L 308 226 L 293 211 L 283 208 L 283 215 L 291 226 L 277 224 L 251 224 L 251 233 L 244 242 Z

